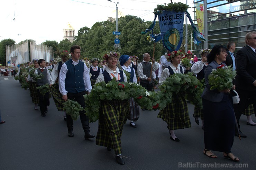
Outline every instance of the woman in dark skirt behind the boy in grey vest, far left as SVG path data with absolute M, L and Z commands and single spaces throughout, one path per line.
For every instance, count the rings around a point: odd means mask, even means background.
M 33 60 L 34 67 L 29 69 L 28 77 L 27 77 L 30 96 L 32 97 L 32 102 L 35 104 L 34 106 L 35 110 L 38 110 L 38 103 L 39 103 L 39 98 L 36 90 L 36 80 L 33 79 L 34 72 L 39 67 L 37 61 L 38 61 L 37 59 Z

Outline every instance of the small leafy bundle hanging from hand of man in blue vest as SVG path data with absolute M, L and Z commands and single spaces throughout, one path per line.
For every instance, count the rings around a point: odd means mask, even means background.
M 70 115 L 73 120 L 76 120 L 79 117 L 79 111 L 82 111 L 83 107 L 79 103 L 68 99 L 64 102 L 64 110 L 66 110 L 67 115 Z

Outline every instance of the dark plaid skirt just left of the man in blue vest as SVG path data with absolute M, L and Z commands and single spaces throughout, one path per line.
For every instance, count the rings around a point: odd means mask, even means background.
M 59 83 L 54 83 L 50 88 L 49 88 L 51 94 L 53 95 L 53 100 L 54 103 L 58 109 L 58 111 L 65 111 L 64 110 L 64 100 L 62 99 L 62 94 L 59 90 Z

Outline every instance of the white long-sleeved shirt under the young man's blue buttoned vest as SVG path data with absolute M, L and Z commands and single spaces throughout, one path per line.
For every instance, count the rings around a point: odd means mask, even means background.
M 80 62 L 79 60 L 77 60 L 77 61 L 72 60 L 73 65 L 77 65 L 79 62 Z M 91 80 L 90 80 L 90 76 L 89 76 L 89 69 L 85 63 L 83 63 L 83 64 L 84 64 L 83 80 L 84 80 L 85 91 L 91 92 L 92 86 L 91 86 Z M 60 74 L 59 74 L 59 89 L 63 96 L 67 94 L 67 91 L 65 88 L 65 79 L 67 76 L 67 71 L 68 71 L 67 65 L 65 63 L 63 63 L 61 70 L 60 70 Z

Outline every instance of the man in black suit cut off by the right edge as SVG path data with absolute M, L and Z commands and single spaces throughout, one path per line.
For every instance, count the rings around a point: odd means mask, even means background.
M 236 91 L 240 102 L 234 105 L 236 119 L 239 125 L 241 114 L 250 104 L 253 104 L 256 113 L 256 32 L 248 32 L 245 35 L 246 45 L 236 53 Z M 240 130 L 239 130 L 240 131 Z M 238 133 L 235 133 L 238 136 Z M 240 131 L 241 137 L 246 137 Z

